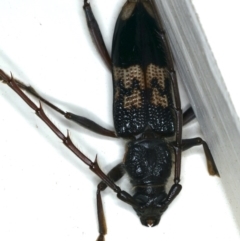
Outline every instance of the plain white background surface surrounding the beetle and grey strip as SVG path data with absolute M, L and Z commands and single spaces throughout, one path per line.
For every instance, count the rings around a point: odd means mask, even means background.
M 91 1 L 109 50 L 123 2 Z M 240 113 L 239 1 L 193 3 Z M 0 68 L 65 110 L 110 128 L 111 75 L 91 42 L 82 2 L 1 0 L 0 9 Z M 95 240 L 98 178 L 3 85 L 0 107 L 0 240 Z M 44 108 L 62 131 L 71 130 L 72 139 L 89 158 L 98 154 L 103 170 L 121 161 L 124 141 L 93 134 Z M 184 128 L 184 137 L 199 135 L 196 121 Z M 126 184 L 127 178 L 121 182 Z M 201 147 L 183 154 L 182 185 L 181 194 L 155 228 L 143 227 L 131 207 L 106 191 L 106 240 L 239 240 L 221 180 L 208 176 Z

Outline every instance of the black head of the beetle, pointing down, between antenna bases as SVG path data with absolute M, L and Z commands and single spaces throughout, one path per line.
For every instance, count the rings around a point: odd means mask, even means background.
M 137 215 L 140 218 L 142 225 L 147 227 L 154 227 L 158 225 L 162 214 L 168 208 L 166 204 L 167 194 L 162 192 L 156 197 L 149 197 L 148 195 L 135 194 L 134 198 L 139 203 L 138 207 L 134 207 Z

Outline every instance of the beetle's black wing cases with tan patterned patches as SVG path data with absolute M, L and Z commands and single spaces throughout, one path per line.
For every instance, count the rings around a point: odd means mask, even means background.
M 164 42 L 149 2 L 126 3 L 113 45 L 113 116 L 120 137 L 151 129 L 175 133 L 172 86 Z

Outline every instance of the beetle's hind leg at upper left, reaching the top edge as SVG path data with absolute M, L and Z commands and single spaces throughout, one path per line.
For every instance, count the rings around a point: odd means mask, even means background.
M 87 25 L 88 25 L 89 32 L 92 36 L 93 42 L 98 52 L 100 53 L 102 59 L 104 60 L 105 64 L 111 70 L 112 69 L 111 58 L 108 54 L 98 23 L 93 15 L 92 8 L 87 0 L 84 0 L 83 9 L 86 14 Z

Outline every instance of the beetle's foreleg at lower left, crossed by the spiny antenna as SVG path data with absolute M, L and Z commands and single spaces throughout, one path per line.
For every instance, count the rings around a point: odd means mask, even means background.
M 107 175 L 112 179 L 113 182 L 117 182 L 125 174 L 125 169 L 123 164 L 120 163 L 115 166 Z M 98 213 L 98 227 L 99 227 L 99 237 L 97 241 L 103 241 L 104 235 L 107 234 L 107 225 L 102 205 L 101 192 L 107 188 L 104 182 L 100 182 L 97 187 L 97 213 Z

